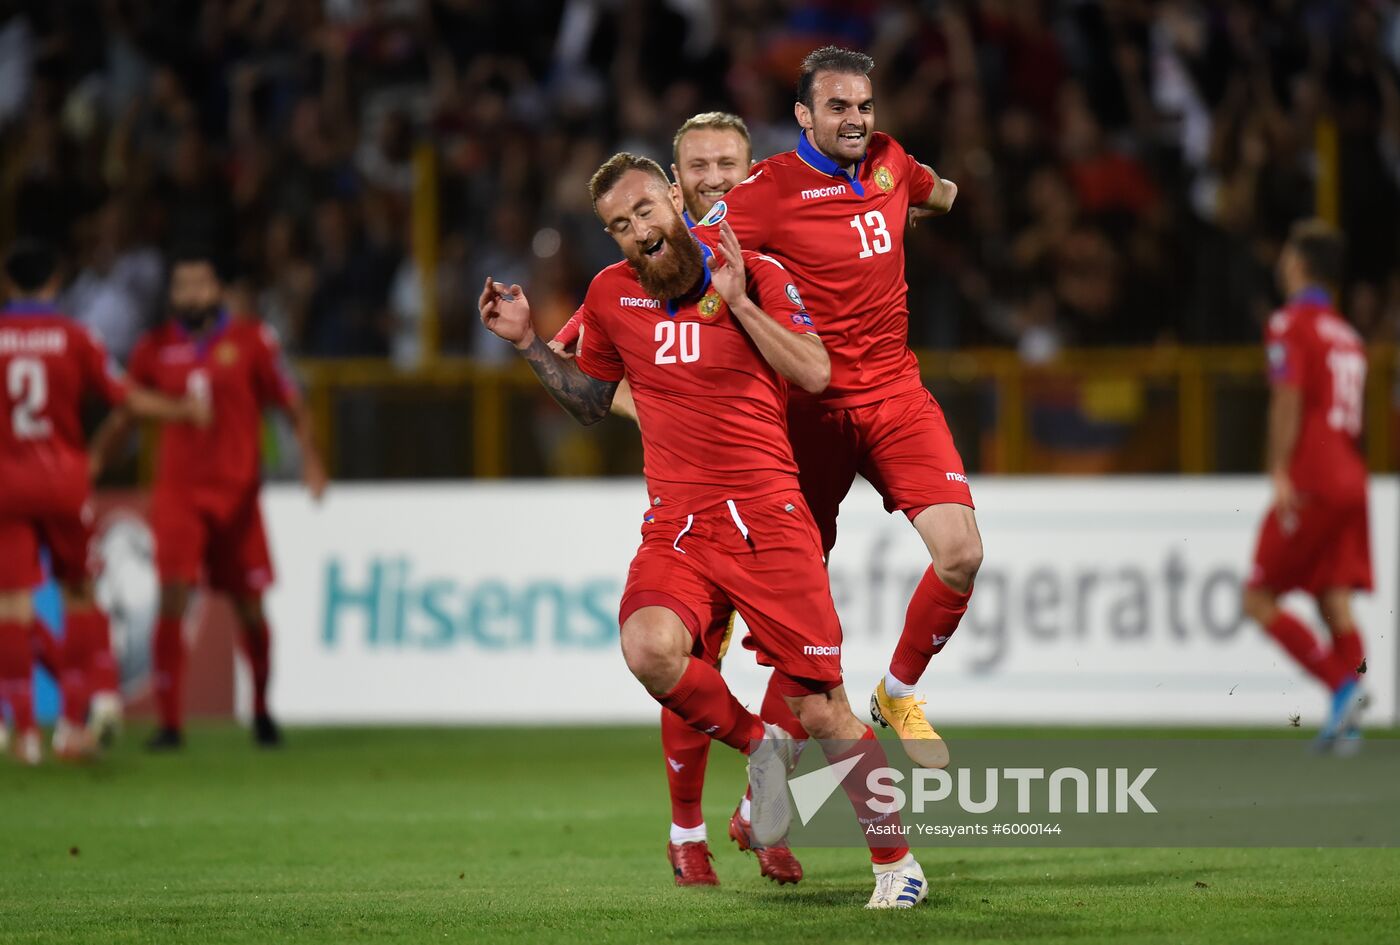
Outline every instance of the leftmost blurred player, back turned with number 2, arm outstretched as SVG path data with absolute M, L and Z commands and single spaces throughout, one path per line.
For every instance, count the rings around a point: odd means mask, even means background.
M 95 396 L 157 420 L 207 420 L 197 403 L 129 388 L 102 344 L 59 312 L 57 259 L 21 242 L 6 259 L 8 304 L 0 311 L 0 701 L 14 718 L 17 755 L 38 763 L 32 647 L 60 685 L 63 718 L 55 729 L 62 757 L 91 753 L 84 728 L 90 697 L 119 687 L 106 617 L 92 598 L 88 570 L 91 508 L 81 407 Z M 63 592 L 62 644 L 34 616 L 31 591 L 42 580 L 39 549 L 49 549 Z

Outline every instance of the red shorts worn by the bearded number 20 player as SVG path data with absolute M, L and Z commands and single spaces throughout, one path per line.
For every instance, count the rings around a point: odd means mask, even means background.
M 657 515 L 641 526 L 619 623 L 666 608 L 713 662 L 738 610 L 759 662 L 783 673 L 784 694 L 829 692 L 841 685 L 841 623 L 818 542 L 797 491 L 738 500 L 734 512 L 721 504 L 679 521 Z

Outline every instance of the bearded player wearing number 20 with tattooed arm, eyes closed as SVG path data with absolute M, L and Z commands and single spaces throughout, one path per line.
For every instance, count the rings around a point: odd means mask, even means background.
M 616 154 L 589 190 L 624 262 L 588 288 L 577 360 L 536 337 L 519 286 L 487 279 L 480 311 L 582 423 L 606 416 L 624 377 L 631 384 L 651 503 L 619 615 L 627 666 L 692 728 L 749 755 L 753 836 L 769 846 L 791 819 L 794 742 L 694 655 L 714 615 L 739 610 L 805 729 L 854 742 L 843 785 L 878 874 L 869 906 L 913 906 L 927 895 L 923 871 L 875 829 L 893 818 L 871 805 L 867 778 L 885 755 L 846 700 L 840 622 L 785 435 L 784 379 L 813 392 L 829 379 L 812 319 L 787 272 L 743 253 L 728 228 L 718 251 L 703 249 L 654 161 Z

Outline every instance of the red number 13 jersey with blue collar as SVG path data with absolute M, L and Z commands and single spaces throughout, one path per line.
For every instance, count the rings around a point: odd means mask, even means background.
M 715 244 L 728 220 L 739 245 L 780 259 L 832 357 L 830 407 L 851 407 L 923 386 L 909 350 L 904 221 L 937 179 L 888 134 L 871 134 L 848 176 L 804 134 L 795 151 L 753 165 L 696 225 Z

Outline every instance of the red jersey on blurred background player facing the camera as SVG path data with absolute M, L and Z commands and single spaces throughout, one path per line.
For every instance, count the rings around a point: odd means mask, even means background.
M 223 315 L 204 339 L 178 322 L 147 332 L 132 351 L 132 378 L 153 391 L 209 398 L 213 423 L 167 423 L 155 469 L 157 491 L 213 490 L 241 496 L 262 475 L 262 412 L 297 400 L 272 330 Z

